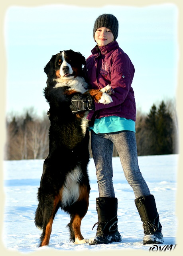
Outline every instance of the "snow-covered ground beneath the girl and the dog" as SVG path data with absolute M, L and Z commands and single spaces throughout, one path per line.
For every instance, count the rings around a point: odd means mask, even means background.
M 163 225 L 162 232 L 165 241 L 162 247 L 171 244 L 174 247 L 176 244 L 178 225 L 175 202 L 178 158 L 178 155 L 140 156 L 138 158 L 140 170 L 151 194 L 155 196 L 160 222 Z M 113 158 L 113 181 L 118 198 L 118 230 L 122 235 L 122 242 L 98 246 L 70 243 L 69 231 L 66 228 L 69 216 L 59 210 L 53 223 L 49 247 L 39 248 L 41 232 L 35 227 L 34 214 L 37 208 L 37 187 L 39 187 L 42 166 L 43 160 L 4 162 L 5 205 L 2 242 L 6 250 L 8 249 L 7 251 L 13 250 L 13 255 L 16 252 L 29 254 L 43 251 L 45 254 L 51 249 L 55 252 L 51 255 L 57 255 L 58 251 L 62 254 L 71 252 L 71 255 L 74 251 L 80 254 L 83 251 L 96 253 L 103 252 L 103 250 L 105 252 L 112 250 L 114 253 L 121 252 L 122 254 L 124 249 L 149 251 L 151 246 L 142 244 L 142 222 L 134 204 L 133 190 L 124 177 L 118 157 Z M 85 238 L 91 238 L 96 234 L 96 227 L 94 230 L 92 227 L 97 222 L 95 198 L 98 197 L 98 188 L 93 159 L 88 169 L 91 180 L 90 204 L 81 226 L 81 232 Z

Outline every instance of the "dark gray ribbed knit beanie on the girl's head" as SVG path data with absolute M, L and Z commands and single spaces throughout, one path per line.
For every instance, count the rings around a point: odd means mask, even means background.
M 118 37 L 118 20 L 112 14 L 102 14 L 94 22 L 93 38 L 97 28 L 109 28 L 112 31 L 114 40 Z

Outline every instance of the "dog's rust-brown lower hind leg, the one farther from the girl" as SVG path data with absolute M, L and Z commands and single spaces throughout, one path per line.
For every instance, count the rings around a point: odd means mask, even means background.
M 59 196 L 55 196 L 54 199 L 53 196 L 47 196 L 47 204 L 45 204 L 45 208 L 43 209 L 43 232 L 39 247 L 49 244 L 53 220 L 60 206 L 59 202 Z

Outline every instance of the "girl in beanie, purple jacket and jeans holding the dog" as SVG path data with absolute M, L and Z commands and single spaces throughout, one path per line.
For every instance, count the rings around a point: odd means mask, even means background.
M 110 84 L 112 102 L 104 105 L 91 101 L 90 96 L 76 95 L 71 105 L 74 113 L 90 109 L 87 118 L 93 122 L 89 129 L 99 197 L 96 198 L 97 232 L 96 236 L 89 240 L 89 244 L 108 244 L 122 240 L 117 224 L 118 202 L 112 183 L 113 144 L 118 151 L 126 180 L 134 191 L 135 204 L 143 222 L 143 243 L 163 243 L 155 199 L 150 194 L 138 166 L 135 138 L 136 103 L 131 86 L 135 69 L 128 55 L 116 42 L 116 17 L 112 14 L 100 15 L 94 23 L 93 37 L 97 45 L 86 60 L 86 80 L 93 89 Z

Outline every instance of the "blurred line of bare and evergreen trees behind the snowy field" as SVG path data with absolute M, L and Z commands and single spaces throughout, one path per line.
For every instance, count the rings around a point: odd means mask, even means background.
M 6 118 L 5 160 L 44 159 L 48 154 L 49 119 L 30 108 L 21 115 Z M 138 156 L 178 153 L 178 121 L 175 102 L 153 104 L 148 114 L 137 112 Z M 91 153 L 91 146 L 89 143 Z M 91 153 L 92 156 L 92 153 Z M 118 156 L 114 146 L 113 156 Z

